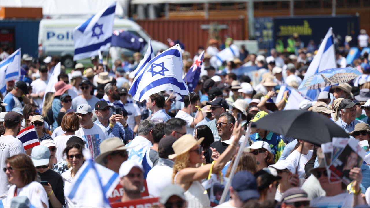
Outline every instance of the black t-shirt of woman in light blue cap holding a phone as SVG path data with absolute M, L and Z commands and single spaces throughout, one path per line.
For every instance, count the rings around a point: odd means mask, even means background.
M 55 197 L 57 197 L 58 201 L 62 205 L 65 205 L 64 201 L 64 183 L 61 175 L 59 175 L 57 172 L 49 169 L 44 173 L 38 173 L 41 177 L 41 181 L 48 181 L 51 185 L 51 188 L 54 191 Z M 52 208 L 49 200 L 49 207 Z

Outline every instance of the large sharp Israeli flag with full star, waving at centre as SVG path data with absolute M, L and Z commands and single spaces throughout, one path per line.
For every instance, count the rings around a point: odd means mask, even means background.
M 135 77 L 129 94 L 142 102 L 152 94 L 171 90 L 181 95 L 189 93 L 182 80 L 182 53 L 177 44 L 150 60 Z

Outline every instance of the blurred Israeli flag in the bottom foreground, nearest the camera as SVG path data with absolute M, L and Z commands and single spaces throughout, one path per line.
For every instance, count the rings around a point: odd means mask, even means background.
M 108 197 L 120 182 L 119 175 L 95 163 L 91 154 L 83 150 L 86 161 L 78 170 L 70 190 L 64 190 L 66 197 L 76 203 L 76 207 L 111 207 Z

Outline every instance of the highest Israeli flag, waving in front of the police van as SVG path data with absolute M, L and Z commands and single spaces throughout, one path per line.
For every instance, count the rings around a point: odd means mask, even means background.
M 111 46 L 116 1 L 73 29 L 73 60 L 98 56 Z

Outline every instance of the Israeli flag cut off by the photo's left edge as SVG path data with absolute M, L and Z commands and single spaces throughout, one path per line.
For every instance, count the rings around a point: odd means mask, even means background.
M 0 92 L 6 95 L 6 82 L 19 80 L 21 76 L 21 49 L 19 48 L 0 62 Z

